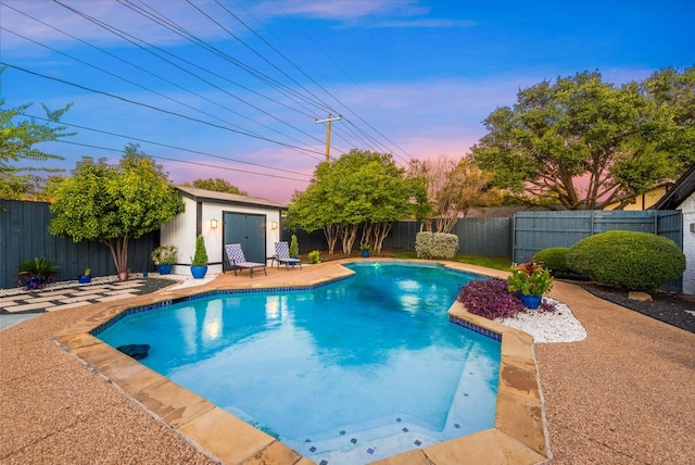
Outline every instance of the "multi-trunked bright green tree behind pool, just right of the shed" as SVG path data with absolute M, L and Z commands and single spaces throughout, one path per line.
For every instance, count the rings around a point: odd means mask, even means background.
M 288 223 L 307 231 L 324 229 L 329 254 L 338 239 L 343 253 L 350 253 L 362 227 L 362 242 L 378 253 L 392 223 L 410 216 L 416 190 L 390 154 L 351 150 L 316 167 L 309 187 L 293 196 Z

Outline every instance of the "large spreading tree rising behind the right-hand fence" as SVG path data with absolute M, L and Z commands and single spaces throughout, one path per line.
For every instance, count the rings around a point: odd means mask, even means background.
M 597 72 L 543 81 L 485 118 L 472 159 L 528 203 L 628 203 L 683 168 L 658 136 L 669 124 L 660 106 L 636 83 L 618 88 Z

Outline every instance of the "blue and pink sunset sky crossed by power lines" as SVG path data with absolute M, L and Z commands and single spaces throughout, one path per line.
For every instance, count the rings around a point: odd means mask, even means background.
M 73 103 L 50 166 L 137 142 L 175 183 L 287 202 L 325 159 L 329 113 L 333 158 L 459 159 L 519 89 L 693 66 L 693 24 L 685 0 L 0 0 L 0 93 L 39 117 Z

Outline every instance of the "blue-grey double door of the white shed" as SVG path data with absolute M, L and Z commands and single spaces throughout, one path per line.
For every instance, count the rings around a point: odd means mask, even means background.
M 224 212 L 223 217 L 225 244 L 240 243 L 247 261 L 265 263 L 266 216 Z

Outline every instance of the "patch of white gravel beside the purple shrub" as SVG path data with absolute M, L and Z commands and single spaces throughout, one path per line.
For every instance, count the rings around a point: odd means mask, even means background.
M 527 310 L 514 318 L 496 318 L 496 322 L 520 329 L 533 336 L 533 342 L 576 342 L 586 339 L 586 329 L 574 317 L 572 311 L 557 300 L 543 298 L 555 304 L 555 312 L 539 313 Z

